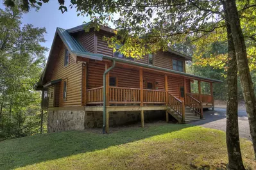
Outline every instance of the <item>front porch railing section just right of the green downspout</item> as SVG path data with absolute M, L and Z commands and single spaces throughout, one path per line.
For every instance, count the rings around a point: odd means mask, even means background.
M 110 104 L 140 103 L 140 89 L 109 87 Z

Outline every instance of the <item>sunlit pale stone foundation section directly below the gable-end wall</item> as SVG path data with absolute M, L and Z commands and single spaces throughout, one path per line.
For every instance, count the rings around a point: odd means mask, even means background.
M 85 111 L 48 111 L 47 132 L 83 130 Z

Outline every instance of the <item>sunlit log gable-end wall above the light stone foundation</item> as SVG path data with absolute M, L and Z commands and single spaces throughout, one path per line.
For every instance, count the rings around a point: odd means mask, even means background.
M 79 106 L 81 105 L 81 79 L 82 79 L 82 62 L 74 62 L 72 56 L 69 56 L 69 65 L 64 66 L 65 45 L 62 43 L 62 48 L 56 59 L 55 67 L 51 81 L 62 79 L 60 83 L 59 107 Z M 63 99 L 64 80 L 67 80 L 67 98 Z

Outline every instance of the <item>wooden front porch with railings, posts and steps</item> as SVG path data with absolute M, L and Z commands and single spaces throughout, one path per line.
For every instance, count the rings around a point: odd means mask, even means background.
M 144 127 L 144 111 L 166 111 L 166 121 L 169 114 L 179 123 L 200 120 L 203 118 L 203 108 L 214 107 L 212 82 L 210 84 L 210 95 L 201 93 L 201 81 L 198 80 L 198 92 L 191 93 L 187 90 L 187 77 L 182 80 L 183 96 L 178 98 L 177 92 L 173 94 L 168 75 L 164 75 L 164 89 L 145 89 L 142 68 L 139 70 L 139 88 L 127 88 L 110 86 L 110 76 L 106 77 L 106 130 L 108 132 L 108 121 L 110 112 L 119 111 L 141 111 L 141 126 Z M 160 76 L 160 75 L 159 75 Z M 189 86 L 190 88 L 190 86 Z M 180 91 L 178 91 L 180 94 Z M 103 111 L 103 86 L 86 89 L 85 111 Z

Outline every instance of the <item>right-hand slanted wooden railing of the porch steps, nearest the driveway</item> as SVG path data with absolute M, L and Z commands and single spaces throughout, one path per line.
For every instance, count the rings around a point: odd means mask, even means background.
M 196 100 L 192 95 L 187 93 L 187 106 L 189 106 L 196 114 L 199 114 L 203 118 L 203 104 Z

